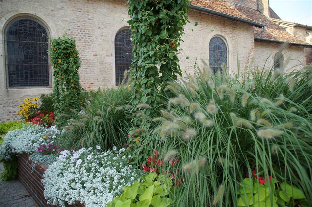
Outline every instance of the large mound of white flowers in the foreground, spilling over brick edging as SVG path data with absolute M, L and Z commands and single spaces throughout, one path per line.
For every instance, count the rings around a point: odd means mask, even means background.
M 123 151 L 62 151 L 42 180 L 48 204 L 66 206 L 80 201 L 86 207 L 106 206 L 142 175 L 122 159 Z

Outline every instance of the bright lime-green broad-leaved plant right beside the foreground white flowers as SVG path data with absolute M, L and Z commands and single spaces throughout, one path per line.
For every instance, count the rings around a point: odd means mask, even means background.
M 170 205 L 170 190 L 173 187 L 170 178 L 165 175 L 149 173 L 144 181 L 136 181 L 132 186 L 124 187 L 123 193 L 115 197 L 107 207 L 167 207 Z

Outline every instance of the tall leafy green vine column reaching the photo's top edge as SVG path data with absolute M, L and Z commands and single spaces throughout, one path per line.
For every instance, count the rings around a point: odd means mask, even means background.
M 167 81 L 181 75 L 176 53 L 188 22 L 188 0 L 129 0 L 133 102 L 156 106 Z

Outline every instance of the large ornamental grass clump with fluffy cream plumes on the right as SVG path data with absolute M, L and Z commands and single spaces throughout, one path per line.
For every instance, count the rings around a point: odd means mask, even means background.
M 168 111 L 154 118 L 158 125 L 142 140 L 146 154 L 150 149 L 158 149 L 160 156 L 173 151 L 180 160 L 170 169 L 180 170 L 177 177 L 183 178 L 171 205 L 238 206 L 238 198 L 248 193 L 238 191 L 239 183 L 255 170 L 263 181 L 269 176 L 277 180 L 267 184 L 268 200 L 277 196 L 271 187 L 287 182 L 305 195 L 300 204 L 311 206 L 311 67 L 274 78 L 273 71 L 230 78 L 226 71 L 212 75 L 205 68 L 198 74 L 171 90 L 191 104 L 171 104 L 170 99 Z M 211 121 L 209 127 L 205 120 Z M 248 185 L 263 188 L 263 181 Z M 256 205 L 257 194 L 250 196 Z M 294 202 L 289 199 L 286 205 Z

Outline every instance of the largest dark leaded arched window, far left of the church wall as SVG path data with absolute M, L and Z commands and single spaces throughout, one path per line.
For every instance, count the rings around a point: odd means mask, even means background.
M 6 29 L 8 87 L 49 86 L 48 33 L 32 18 L 18 18 Z

